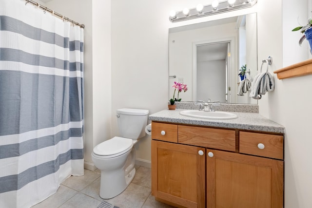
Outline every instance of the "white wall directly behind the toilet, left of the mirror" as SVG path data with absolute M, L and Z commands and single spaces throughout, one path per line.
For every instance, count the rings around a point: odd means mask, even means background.
M 116 110 L 167 108 L 168 8 L 165 0 L 112 0 L 112 135 Z M 151 137 L 137 145 L 137 159 L 151 161 Z

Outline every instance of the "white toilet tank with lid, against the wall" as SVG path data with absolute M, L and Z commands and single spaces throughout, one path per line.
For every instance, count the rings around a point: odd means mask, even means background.
M 138 139 L 145 136 L 148 113 L 143 109 L 118 109 L 117 123 L 121 137 Z

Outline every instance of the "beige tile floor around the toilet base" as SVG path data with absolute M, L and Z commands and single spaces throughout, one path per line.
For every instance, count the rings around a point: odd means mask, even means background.
M 136 166 L 136 176 L 121 194 L 105 200 L 119 208 L 173 208 L 157 202 L 151 195 L 151 169 Z M 84 170 L 83 176 L 71 176 L 58 191 L 32 208 L 97 208 L 100 171 Z

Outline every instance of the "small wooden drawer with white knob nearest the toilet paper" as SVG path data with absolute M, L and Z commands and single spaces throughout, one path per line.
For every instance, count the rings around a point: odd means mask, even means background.
M 152 139 L 177 143 L 177 125 L 152 122 Z

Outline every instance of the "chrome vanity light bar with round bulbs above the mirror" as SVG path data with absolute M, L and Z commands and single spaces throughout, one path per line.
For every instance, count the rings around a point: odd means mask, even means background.
M 195 8 L 184 8 L 183 11 L 170 12 L 169 20 L 171 22 L 184 21 L 188 19 L 195 19 L 215 15 L 219 13 L 229 12 L 254 6 L 257 0 L 214 0 L 212 4 L 201 5 L 198 4 Z

